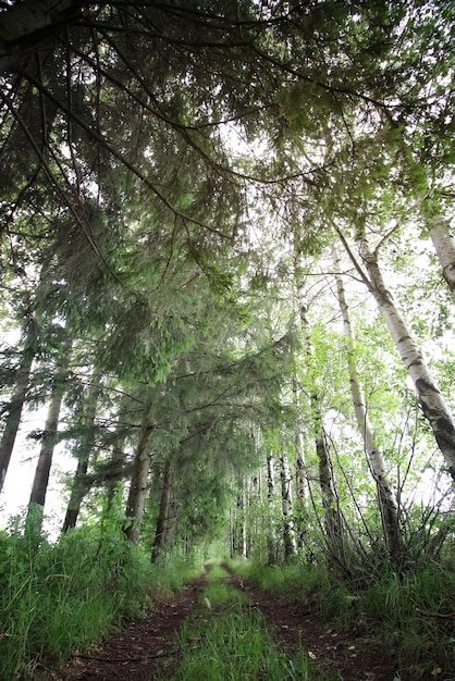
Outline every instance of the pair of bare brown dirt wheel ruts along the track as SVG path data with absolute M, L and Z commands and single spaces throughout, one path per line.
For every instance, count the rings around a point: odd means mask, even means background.
M 392 653 L 365 632 L 340 630 L 323 622 L 309 604 L 258 591 L 234 574 L 226 581 L 242 590 L 262 612 L 280 648 L 293 656 L 302 644 L 321 676 L 325 670 L 331 679 L 339 672 L 342 681 L 410 681 L 403 672 L 396 673 L 398 665 Z M 172 679 L 180 658 L 179 632 L 188 616 L 200 608 L 206 583 L 207 575 L 202 574 L 182 593 L 164 597 L 153 605 L 146 619 L 130 623 L 101 648 L 75 656 L 49 681 Z

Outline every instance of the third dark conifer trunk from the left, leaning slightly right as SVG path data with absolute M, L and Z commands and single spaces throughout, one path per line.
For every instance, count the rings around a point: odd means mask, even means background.
M 91 387 L 87 396 L 87 405 L 82 422 L 81 439 L 76 449 L 77 466 L 74 473 L 73 485 L 71 487 L 70 502 L 67 504 L 65 519 L 63 521 L 63 532 L 76 527 L 81 506 L 85 495 L 90 490 L 91 483 L 87 480 L 87 470 L 90 454 L 95 442 L 95 417 L 97 411 L 98 397 L 100 394 L 100 372 L 95 371 L 91 377 Z

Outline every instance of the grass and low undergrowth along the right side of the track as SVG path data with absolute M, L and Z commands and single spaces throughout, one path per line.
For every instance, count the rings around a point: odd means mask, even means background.
M 366 575 L 348 583 L 324 566 L 265 567 L 229 561 L 231 569 L 261 590 L 310 600 L 325 620 L 364 630 L 396 651 L 413 678 L 455 679 L 455 572 L 451 565 L 425 562 L 398 573 Z

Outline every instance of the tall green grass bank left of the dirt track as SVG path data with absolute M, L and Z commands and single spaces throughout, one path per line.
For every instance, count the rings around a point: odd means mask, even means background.
M 151 566 L 106 518 L 56 544 L 17 519 L 0 533 L 0 679 L 37 679 L 142 617 L 159 591 L 182 587 L 182 564 L 173 564 Z

